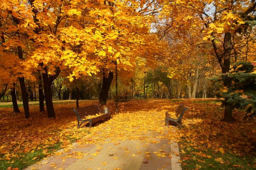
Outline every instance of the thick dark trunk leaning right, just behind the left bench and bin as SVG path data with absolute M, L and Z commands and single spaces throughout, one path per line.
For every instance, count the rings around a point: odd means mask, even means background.
M 111 85 L 111 82 L 113 81 L 114 73 L 112 71 L 109 71 L 108 77 L 103 74 L 103 81 L 102 81 L 102 90 L 99 95 L 99 104 L 100 105 L 106 105 L 107 99 L 108 99 L 108 91 Z

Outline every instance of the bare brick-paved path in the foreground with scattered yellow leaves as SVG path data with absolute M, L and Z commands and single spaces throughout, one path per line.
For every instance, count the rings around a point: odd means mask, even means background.
M 73 146 L 70 151 L 57 153 L 25 170 L 181 170 L 178 145 L 167 139 L 107 139 L 98 145 Z

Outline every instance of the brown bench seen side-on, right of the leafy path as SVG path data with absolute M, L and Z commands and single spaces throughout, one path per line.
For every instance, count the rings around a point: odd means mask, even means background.
M 171 118 L 168 111 L 167 111 L 166 112 L 166 119 L 165 119 L 167 127 L 169 127 L 169 122 L 171 122 L 171 123 L 175 123 L 175 125 L 178 125 L 181 128 L 182 127 L 181 126 L 182 116 L 183 116 L 184 112 L 187 111 L 188 109 L 189 108 L 186 108 L 183 105 L 179 105 L 178 108 L 175 111 L 177 119 Z

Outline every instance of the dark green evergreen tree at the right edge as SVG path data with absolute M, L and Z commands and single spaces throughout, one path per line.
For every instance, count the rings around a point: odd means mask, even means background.
M 248 116 L 256 115 L 256 61 L 236 62 L 233 71 L 212 78 L 219 87 L 217 96 L 222 105 L 229 103 L 233 108 L 245 109 Z

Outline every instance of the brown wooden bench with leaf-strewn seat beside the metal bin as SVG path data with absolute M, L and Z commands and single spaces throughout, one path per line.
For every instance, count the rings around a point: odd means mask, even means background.
M 86 106 L 83 108 L 73 108 L 73 111 L 76 113 L 77 117 L 77 128 L 79 128 L 84 122 L 89 122 L 89 127 L 92 126 L 93 123 L 98 122 L 103 119 L 110 119 L 111 118 L 111 113 L 105 113 L 101 116 L 97 116 L 91 119 L 84 119 L 85 116 L 89 115 L 96 115 L 97 113 L 102 113 L 98 105 L 91 105 L 91 106 Z M 79 123 L 81 122 L 81 123 Z

